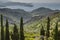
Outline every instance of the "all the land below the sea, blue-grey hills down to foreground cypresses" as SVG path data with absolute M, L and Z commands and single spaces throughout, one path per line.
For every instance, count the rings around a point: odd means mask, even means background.
M 0 9 L 0 40 L 59 40 L 60 11 Z M 25 21 L 26 20 L 26 21 Z

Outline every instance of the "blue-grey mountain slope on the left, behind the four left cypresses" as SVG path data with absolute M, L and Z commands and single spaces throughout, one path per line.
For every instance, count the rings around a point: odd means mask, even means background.
M 0 9 L 0 14 L 4 15 L 4 20 L 8 18 L 10 23 L 19 23 L 20 17 L 24 18 L 24 22 L 31 18 L 31 14 L 22 9 L 2 8 Z

